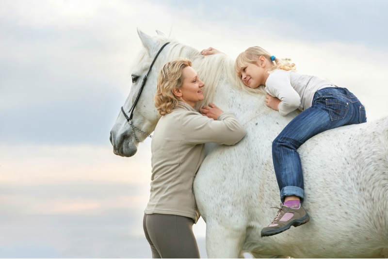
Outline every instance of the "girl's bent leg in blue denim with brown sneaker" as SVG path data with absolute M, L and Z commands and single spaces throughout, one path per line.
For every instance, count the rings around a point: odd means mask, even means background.
M 327 129 L 330 116 L 320 105 L 312 106 L 299 113 L 275 138 L 272 143 L 272 157 L 281 201 L 285 197 L 304 198 L 303 174 L 300 157 L 296 149 L 307 139 Z M 299 202 L 294 206 L 280 204 L 275 219 L 268 227 L 261 229 L 261 237 L 279 234 L 291 226 L 298 227 L 309 221 L 306 210 Z M 296 208 L 294 208 L 296 207 Z

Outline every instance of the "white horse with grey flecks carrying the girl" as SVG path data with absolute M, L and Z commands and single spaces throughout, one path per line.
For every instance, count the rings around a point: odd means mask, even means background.
M 144 48 L 132 70 L 129 110 L 143 76 L 167 41 L 162 32 L 151 37 L 138 31 Z M 310 221 L 281 234 L 261 238 L 260 230 L 274 218 L 279 190 L 272 163 L 272 140 L 297 114 L 282 117 L 264 103 L 263 92 L 243 90 L 234 61 L 223 54 L 199 51 L 171 40 L 148 76 L 133 115 L 133 125 L 152 132 L 158 122 L 153 104 L 162 65 L 177 58 L 193 61 L 206 83 L 205 103 L 232 111 L 247 135 L 235 146 L 208 145 L 208 155 L 195 181 L 198 209 L 206 222 L 210 258 L 254 257 L 376 258 L 388 257 L 388 117 L 323 132 L 299 149 L 305 178 L 304 207 Z M 143 141 L 146 136 L 134 130 Z M 113 152 L 130 157 L 138 141 L 120 112 L 111 131 Z

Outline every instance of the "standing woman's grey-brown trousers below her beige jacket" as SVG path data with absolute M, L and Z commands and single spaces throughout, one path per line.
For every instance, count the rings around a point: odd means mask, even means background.
M 192 218 L 144 214 L 143 228 L 152 258 L 200 258 Z

